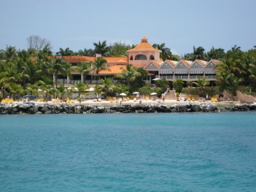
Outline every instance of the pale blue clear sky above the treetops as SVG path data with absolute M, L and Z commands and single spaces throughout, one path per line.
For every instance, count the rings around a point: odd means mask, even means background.
M 246 51 L 256 45 L 255 13 L 255 0 L 0 0 L 0 49 L 27 49 L 26 38 L 38 35 L 54 52 L 103 40 L 138 44 L 143 36 L 179 55 L 193 45 Z

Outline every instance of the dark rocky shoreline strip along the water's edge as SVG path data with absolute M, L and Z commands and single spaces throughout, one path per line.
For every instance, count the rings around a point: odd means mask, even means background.
M 0 114 L 92 114 L 92 113 L 186 113 L 186 112 L 232 112 L 256 111 L 256 104 L 239 104 L 217 108 L 214 104 L 172 104 L 172 105 L 122 105 L 122 106 L 86 106 L 86 105 L 45 105 L 23 106 L 19 104 L 0 105 Z

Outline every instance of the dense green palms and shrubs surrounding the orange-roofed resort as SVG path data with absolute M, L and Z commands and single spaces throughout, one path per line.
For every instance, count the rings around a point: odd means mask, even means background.
M 116 76 L 123 81 L 123 83 L 113 83 L 113 79 L 100 79 L 99 72 L 101 70 L 108 70 L 107 62 L 104 57 L 99 57 L 94 62 L 82 62 L 76 68 L 72 68 L 70 63 L 67 63 L 63 58 L 55 58 L 51 51 L 51 44 L 47 40 L 41 40 L 42 44 L 35 44 L 38 40 L 37 36 L 29 37 L 30 44 L 28 50 L 16 50 L 15 47 L 6 46 L 5 50 L 0 50 L 0 88 L 1 97 L 10 95 L 11 97 L 19 98 L 20 95 L 38 94 L 38 90 L 44 92 L 44 97 L 63 97 L 63 95 L 70 95 L 77 93 L 79 97 L 84 94 L 84 90 L 88 88 L 83 82 L 83 79 L 90 72 L 95 71 L 97 76 L 97 86 L 95 88 L 96 94 L 112 95 L 118 93 L 140 92 L 144 95 L 149 95 L 156 92 L 158 96 L 164 93 L 167 88 L 176 88 L 177 92 L 186 92 L 189 94 L 198 94 L 205 97 L 221 93 L 227 90 L 233 95 L 237 90 L 242 92 L 254 94 L 256 92 L 256 47 L 248 51 L 241 51 L 240 47 L 234 46 L 229 51 L 225 52 L 223 49 L 212 49 L 205 52 L 203 47 L 193 47 L 193 52 L 185 54 L 186 60 L 220 60 L 217 65 L 216 74 L 218 81 L 216 87 L 209 87 L 209 82 L 205 79 L 199 79 L 196 83 L 184 83 L 177 79 L 173 83 L 166 80 L 156 81 L 154 86 L 146 84 L 143 79 L 147 77 L 147 72 L 143 68 L 136 68 L 128 64 L 123 68 L 122 74 Z M 101 54 L 102 56 L 126 56 L 127 50 L 134 47 L 134 45 L 125 45 L 122 42 L 115 42 L 107 45 L 106 41 L 97 42 L 94 49 L 84 49 L 77 52 L 60 48 L 56 52 L 58 56 L 70 55 L 85 55 L 95 56 Z M 165 47 L 164 44 L 154 44 L 154 47 L 161 49 L 161 58 L 163 60 L 179 60 L 179 56 L 172 54 L 171 50 Z M 81 83 L 74 84 L 74 88 L 64 88 L 63 83 L 53 84 L 53 78 L 58 74 L 63 77 L 70 77 L 71 72 L 76 70 L 82 74 Z M 100 83 L 100 84 L 99 84 Z M 195 86 L 195 88 L 193 88 Z M 185 88 L 184 88 L 185 87 Z

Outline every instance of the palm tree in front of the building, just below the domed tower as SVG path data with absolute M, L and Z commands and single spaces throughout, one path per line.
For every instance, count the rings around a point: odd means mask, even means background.
M 130 90 L 131 88 L 131 83 L 137 78 L 137 77 L 140 77 L 141 74 L 140 72 L 138 72 L 136 70 L 135 67 L 133 67 L 132 64 L 128 63 L 127 65 L 125 65 L 126 68 L 122 67 L 122 74 L 118 74 L 116 75 L 116 77 L 119 77 L 121 79 L 125 79 L 126 80 L 126 83 L 127 83 L 127 86 Z

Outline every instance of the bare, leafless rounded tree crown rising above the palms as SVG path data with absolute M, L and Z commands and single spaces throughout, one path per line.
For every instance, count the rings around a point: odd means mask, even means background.
M 27 38 L 28 49 L 35 51 L 43 50 L 48 47 L 51 50 L 51 42 L 45 38 L 40 38 L 38 35 L 31 35 Z

